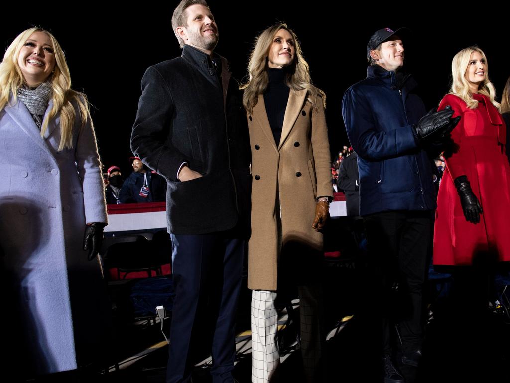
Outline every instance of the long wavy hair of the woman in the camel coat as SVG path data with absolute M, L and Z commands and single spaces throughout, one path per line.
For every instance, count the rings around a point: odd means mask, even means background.
M 269 75 L 267 73 L 268 67 L 268 54 L 271 44 L 273 43 L 274 36 L 279 30 L 286 30 L 294 40 L 295 55 L 294 62 L 290 64 L 287 70 L 286 83 L 289 88 L 293 90 L 307 90 L 308 101 L 317 109 L 318 98 L 326 107 L 326 94 L 312 85 L 310 78 L 310 67 L 304 60 L 301 45 L 296 37 L 296 34 L 287 27 L 284 23 L 275 24 L 267 28 L 255 39 L 253 50 L 250 53 L 248 60 L 248 81 L 242 84 L 239 88 L 244 89 L 243 105 L 248 113 L 252 113 L 253 107 L 257 105 L 259 94 L 263 94 L 269 84 Z

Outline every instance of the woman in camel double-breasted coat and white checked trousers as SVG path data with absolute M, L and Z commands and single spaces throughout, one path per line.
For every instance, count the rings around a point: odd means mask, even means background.
M 299 294 L 301 355 L 307 381 L 323 381 L 322 228 L 333 199 L 324 115 L 299 41 L 285 24 L 256 39 L 242 85 L 251 144 L 251 381 L 279 364 L 276 298 Z M 303 271 L 306 272 L 303 272 Z

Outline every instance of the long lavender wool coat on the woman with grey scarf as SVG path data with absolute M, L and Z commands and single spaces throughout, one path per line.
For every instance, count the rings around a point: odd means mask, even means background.
M 107 222 L 103 177 L 90 116 L 82 128 L 75 110 L 61 152 L 59 116 L 43 138 L 21 101 L 0 111 L 2 296 L 19 330 L 4 347 L 29 374 L 77 368 L 103 336 L 102 275 L 82 249 L 85 224 Z

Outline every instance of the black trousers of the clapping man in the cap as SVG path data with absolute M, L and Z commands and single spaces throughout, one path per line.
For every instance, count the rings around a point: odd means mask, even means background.
M 384 353 L 391 352 L 397 343 L 392 336 L 397 323 L 402 351 L 411 352 L 423 338 L 423 285 L 432 213 L 391 211 L 363 219 L 368 252 L 359 265 L 365 284 L 362 291 L 367 295 L 366 303 L 360 305 L 362 323 L 372 325 L 367 331 L 374 352 L 381 347 Z

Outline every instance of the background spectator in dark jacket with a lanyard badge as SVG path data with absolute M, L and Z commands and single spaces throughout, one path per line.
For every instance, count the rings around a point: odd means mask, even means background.
M 165 202 L 166 181 L 157 173 L 148 172 L 139 157 L 133 157 L 133 173 L 120 189 L 120 203 Z

